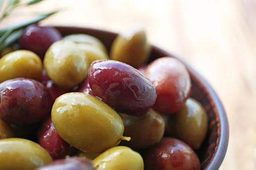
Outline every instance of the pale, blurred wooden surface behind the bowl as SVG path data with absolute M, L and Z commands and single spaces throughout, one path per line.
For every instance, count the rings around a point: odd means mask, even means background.
M 45 0 L 18 8 L 0 28 L 64 8 L 41 22 L 121 32 L 144 27 L 152 44 L 200 72 L 227 111 L 230 142 L 221 170 L 253 170 L 256 146 L 256 0 Z

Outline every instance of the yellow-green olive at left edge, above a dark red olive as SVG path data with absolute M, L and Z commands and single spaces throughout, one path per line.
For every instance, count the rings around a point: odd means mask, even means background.
M 0 59 L 0 83 L 18 77 L 41 80 L 42 69 L 41 59 L 32 51 L 13 51 Z

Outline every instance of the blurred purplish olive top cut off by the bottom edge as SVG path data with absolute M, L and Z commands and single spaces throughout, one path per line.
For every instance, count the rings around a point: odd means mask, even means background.
M 53 161 L 35 170 L 95 170 L 92 161 L 84 158 L 67 158 Z

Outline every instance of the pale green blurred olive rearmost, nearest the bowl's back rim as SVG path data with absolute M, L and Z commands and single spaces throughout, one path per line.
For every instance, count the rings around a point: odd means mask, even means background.
M 101 49 L 105 54 L 107 54 L 108 50 L 105 45 L 96 37 L 87 34 L 70 34 L 64 37 L 62 40 L 70 40 L 76 42 L 78 44 L 87 44 L 93 45 L 99 49 Z

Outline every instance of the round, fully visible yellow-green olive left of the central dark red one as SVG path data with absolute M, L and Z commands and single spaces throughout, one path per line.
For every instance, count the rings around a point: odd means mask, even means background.
M 87 76 L 88 61 L 75 42 L 54 42 L 44 57 L 44 68 L 53 82 L 62 88 L 72 88 Z

